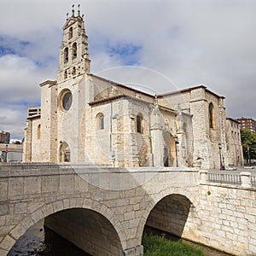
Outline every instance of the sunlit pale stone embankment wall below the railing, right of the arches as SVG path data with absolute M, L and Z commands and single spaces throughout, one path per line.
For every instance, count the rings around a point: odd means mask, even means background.
M 256 189 L 201 185 L 201 239 L 235 255 L 256 253 Z

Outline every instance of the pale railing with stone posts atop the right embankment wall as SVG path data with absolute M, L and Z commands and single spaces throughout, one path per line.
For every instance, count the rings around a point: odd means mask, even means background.
M 241 187 L 256 188 L 256 177 L 251 172 L 240 172 L 239 174 L 209 173 L 201 170 L 201 183 L 233 184 Z

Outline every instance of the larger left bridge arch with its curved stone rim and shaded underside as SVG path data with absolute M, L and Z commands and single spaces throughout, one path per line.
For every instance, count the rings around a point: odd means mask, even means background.
M 82 219 L 78 218 L 81 216 L 82 218 L 93 219 L 93 222 L 96 223 L 96 230 L 98 232 L 95 234 L 95 236 L 98 236 L 99 241 L 101 241 L 101 246 L 96 248 L 96 252 L 90 251 L 90 248 L 87 247 L 88 245 L 86 245 L 86 243 L 81 245 L 76 241 L 73 241 L 72 237 L 67 237 L 62 233 L 63 230 L 55 230 L 55 227 L 58 226 L 55 226 L 55 221 L 57 223 L 59 221 L 60 224 L 61 220 L 68 222 L 69 218 L 74 219 L 74 217 L 76 217 L 76 219 L 78 219 L 76 224 L 81 224 Z M 84 197 L 49 202 L 48 204 L 38 207 L 38 209 L 30 214 L 27 214 L 25 218 L 21 219 L 20 222 L 9 231 L 9 234 L 5 236 L 1 242 L 1 244 L 4 245 L 6 252 L 9 252 L 9 250 L 15 245 L 15 241 L 19 240 L 20 237 L 25 234 L 26 230 L 31 228 L 32 225 L 37 224 L 38 221 L 43 218 L 46 221 L 46 225 L 50 229 L 54 230 L 67 240 L 73 242 L 88 253 L 93 253 L 93 255 L 102 255 L 102 252 L 104 252 L 104 249 L 106 249 L 106 242 L 104 244 L 103 241 L 106 241 L 107 236 L 100 237 L 102 229 L 104 232 L 108 233 L 108 236 L 111 236 L 110 239 L 113 241 L 113 246 L 111 247 L 113 254 L 122 255 L 123 253 L 126 236 L 121 224 L 119 223 L 119 220 L 115 218 L 113 212 L 104 204 L 91 199 L 84 199 Z M 90 226 L 88 220 L 85 220 L 84 225 L 86 226 L 86 224 L 87 227 Z M 102 224 L 102 226 L 100 224 Z M 91 230 L 89 230 L 89 232 L 91 232 Z M 90 233 L 90 236 L 91 234 L 92 233 Z M 110 239 L 108 239 L 108 244 Z

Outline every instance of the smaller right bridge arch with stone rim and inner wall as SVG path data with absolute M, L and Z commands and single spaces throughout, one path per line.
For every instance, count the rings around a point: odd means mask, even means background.
M 188 239 L 191 234 L 196 236 L 195 230 L 201 220 L 198 201 L 193 192 L 189 189 L 167 188 L 153 195 L 140 221 L 137 237 L 142 239 L 146 226 Z

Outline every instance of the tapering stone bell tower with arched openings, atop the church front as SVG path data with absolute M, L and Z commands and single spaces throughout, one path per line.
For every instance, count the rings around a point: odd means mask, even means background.
M 74 5 L 71 17 L 68 16 L 63 26 L 63 36 L 60 49 L 60 64 L 57 71 L 58 83 L 72 79 L 84 73 L 90 73 L 90 59 L 88 55 L 88 37 L 84 29 L 84 15 L 74 14 Z

